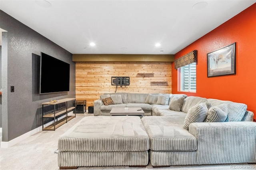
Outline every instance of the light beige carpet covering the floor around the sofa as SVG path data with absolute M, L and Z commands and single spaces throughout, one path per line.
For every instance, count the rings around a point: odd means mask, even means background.
M 62 125 L 56 131 L 42 131 L 26 138 L 24 141 L 10 147 L 0 149 L 0 170 L 58 170 L 57 150 L 58 138 L 84 116 L 92 114 L 77 114 L 76 118 Z M 115 167 L 79 167 L 78 170 L 250 170 L 255 164 L 223 164 L 200 166 L 171 166 L 168 168 L 129 168 L 128 166 Z

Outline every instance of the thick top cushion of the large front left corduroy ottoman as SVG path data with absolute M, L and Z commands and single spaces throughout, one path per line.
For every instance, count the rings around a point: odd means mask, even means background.
M 60 151 L 146 151 L 149 138 L 138 116 L 87 116 L 58 141 Z

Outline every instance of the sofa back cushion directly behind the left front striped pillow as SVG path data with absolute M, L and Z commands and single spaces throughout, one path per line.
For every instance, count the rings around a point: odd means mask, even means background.
M 188 113 L 188 110 L 199 103 L 207 102 L 206 98 L 197 97 L 197 96 L 188 96 L 185 98 L 183 105 L 181 107 L 181 111 Z

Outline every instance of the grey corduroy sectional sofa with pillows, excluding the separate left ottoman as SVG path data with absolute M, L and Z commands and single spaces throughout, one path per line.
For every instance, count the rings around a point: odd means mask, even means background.
M 116 100 L 113 95 L 121 95 L 122 103 L 105 106 L 102 99 Z M 153 167 L 256 162 L 256 122 L 246 104 L 184 94 L 106 93 L 100 97 L 94 101 L 94 116 L 109 116 L 112 107 L 145 111 L 141 121 L 149 136 Z

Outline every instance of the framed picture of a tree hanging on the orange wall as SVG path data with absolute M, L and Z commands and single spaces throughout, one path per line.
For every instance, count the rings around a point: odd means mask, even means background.
M 236 43 L 207 54 L 207 77 L 236 74 Z

